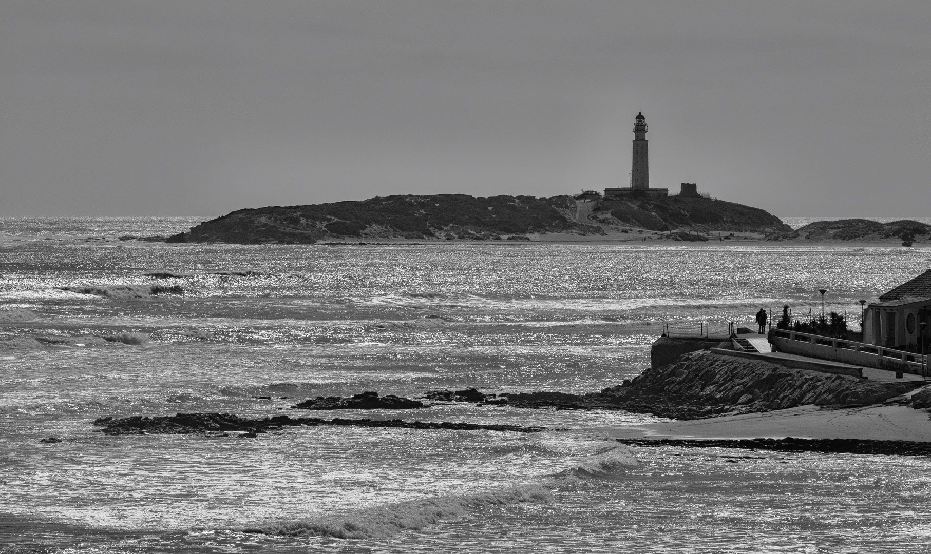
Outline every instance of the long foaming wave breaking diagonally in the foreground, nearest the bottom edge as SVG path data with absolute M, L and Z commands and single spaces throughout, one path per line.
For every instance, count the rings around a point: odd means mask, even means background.
M 548 502 L 551 496 L 552 491 L 545 485 L 524 485 L 476 495 L 434 496 L 368 508 L 344 516 L 269 522 L 240 531 L 285 536 L 385 537 L 404 530 L 423 529 L 431 523 L 456 517 L 468 508 L 542 503 Z

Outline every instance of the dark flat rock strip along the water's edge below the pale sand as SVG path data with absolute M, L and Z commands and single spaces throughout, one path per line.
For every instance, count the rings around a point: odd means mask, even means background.
M 618 439 L 636 446 L 688 446 L 742 448 L 779 452 L 828 452 L 871 455 L 931 455 L 931 442 L 876 441 L 872 439 Z

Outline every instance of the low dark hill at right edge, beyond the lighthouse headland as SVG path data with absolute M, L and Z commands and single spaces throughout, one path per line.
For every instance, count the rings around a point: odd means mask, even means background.
M 778 232 L 766 237 L 767 240 L 799 241 L 911 241 L 931 242 L 931 225 L 900 219 L 880 223 L 870 219 L 837 219 L 834 221 L 815 221 L 796 231 Z

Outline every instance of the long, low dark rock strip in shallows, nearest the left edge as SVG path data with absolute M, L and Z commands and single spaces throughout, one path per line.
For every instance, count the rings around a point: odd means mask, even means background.
M 227 436 L 228 432 L 241 432 L 240 438 L 255 438 L 261 433 L 280 430 L 286 427 L 315 427 L 334 425 L 340 427 L 378 427 L 400 429 L 457 429 L 457 430 L 492 430 L 533 433 L 546 430 L 545 427 L 523 427 L 519 425 L 480 425 L 476 423 L 455 423 L 448 421 L 403 421 L 401 419 L 321 419 L 319 417 L 275 416 L 250 419 L 233 414 L 176 414 L 174 416 L 130 416 L 101 417 L 93 422 L 101 427 L 95 432 L 108 435 L 143 435 L 153 434 L 192 434 L 207 433 L 212 436 Z

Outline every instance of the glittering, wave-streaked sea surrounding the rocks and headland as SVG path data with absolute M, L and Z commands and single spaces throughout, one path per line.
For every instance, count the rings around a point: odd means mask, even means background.
M 856 328 L 927 247 L 132 238 L 200 219 L 0 219 L 0 552 L 931 552 L 927 457 L 627 447 L 606 429 L 661 419 L 616 411 L 290 410 L 599 390 L 663 329 L 807 314 L 820 288 Z M 92 424 L 192 412 L 547 430 Z

